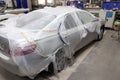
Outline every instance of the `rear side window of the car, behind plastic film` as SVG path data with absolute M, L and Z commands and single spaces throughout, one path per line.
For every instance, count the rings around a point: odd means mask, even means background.
M 77 27 L 75 20 L 73 19 L 73 17 L 70 14 L 68 14 L 65 17 L 64 25 L 65 25 L 66 29 L 71 29 L 71 28 Z

